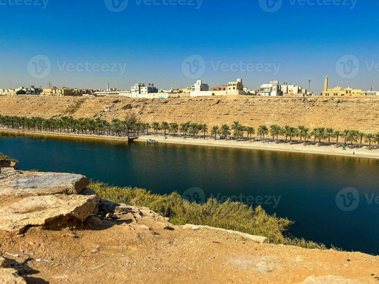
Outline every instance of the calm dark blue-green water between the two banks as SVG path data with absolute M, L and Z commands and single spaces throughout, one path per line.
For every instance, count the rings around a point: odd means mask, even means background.
M 206 197 L 242 195 L 241 201 L 253 201 L 253 205 L 263 202 L 269 214 L 293 220 L 290 233 L 294 236 L 348 251 L 379 254 L 379 205 L 375 203 L 379 195 L 378 160 L 0 135 L 0 152 L 18 159 L 20 170 L 81 173 L 105 183 L 142 187 L 155 193 L 183 194 L 199 187 Z M 335 199 L 346 187 L 356 188 L 360 198 L 357 208 L 350 212 L 338 208 Z M 196 191 L 201 197 L 201 190 Z M 274 201 L 278 200 L 276 206 Z

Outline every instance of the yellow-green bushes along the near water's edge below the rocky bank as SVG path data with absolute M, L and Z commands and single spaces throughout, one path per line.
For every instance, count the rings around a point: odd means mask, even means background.
M 240 202 L 227 200 L 220 203 L 209 198 L 204 204 L 190 203 L 177 192 L 170 195 L 158 195 L 145 189 L 115 187 L 100 182 L 90 185 L 101 198 L 114 202 L 150 208 L 158 214 L 169 217 L 174 225 L 186 223 L 208 225 L 216 228 L 240 231 L 257 236 L 265 236 L 269 243 L 296 245 L 303 248 L 327 249 L 325 245 L 299 239 L 286 234 L 293 222 L 268 215 L 257 206 L 253 208 Z

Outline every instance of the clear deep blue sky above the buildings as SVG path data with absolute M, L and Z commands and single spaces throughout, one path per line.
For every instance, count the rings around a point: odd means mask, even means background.
M 0 0 L 0 87 L 177 88 L 242 78 L 251 89 L 271 80 L 308 88 L 312 78 L 311 91 L 321 92 L 328 75 L 330 87 L 379 89 L 377 1 L 277 0 L 271 12 L 267 0 L 128 0 L 121 12 L 107 8 L 111 0 L 46 1 Z M 28 65 L 36 55 L 51 62 L 42 78 Z M 196 78 L 182 69 L 191 55 L 204 59 Z M 336 69 L 345 55 L 353 55 L 351 76 Z M 91 71 L 80 72 L 86 62 Z

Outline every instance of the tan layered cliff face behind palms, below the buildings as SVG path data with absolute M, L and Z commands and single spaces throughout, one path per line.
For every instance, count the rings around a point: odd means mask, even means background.
M 83 101 L 83 102 L 82 102 Z M 80 103 L 78 103 L 80 102 Z M 266 124 L 306 125 L 335 129 L 379 131 L 379 98 L 212 96 L 197 98 L 131 99 L 125 97 L 0 97 L 0 114 L 74 118 L 124 119 L 130 112 L 145 122 L 196 122 L 208 126 L 238 120 Z

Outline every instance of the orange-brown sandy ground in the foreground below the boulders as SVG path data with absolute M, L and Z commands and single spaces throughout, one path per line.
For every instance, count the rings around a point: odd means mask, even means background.
M 167 230 L 163 225 L 150 216 L 128 213 L 115 222 L 90 217 L 83 226 L 32 227 L 22 236 L 0 232 L 0 256 L 9 258 L 9 266 L 28 283 L 301 283 L 305 279 L 313 280 L 304 283 L 377 283 L 379 279 L 378 256 L 260 244 L 214 229 L 193 231 L 170 225 Z M 20 246 L 34 255 L 23 255 Z M 105 266 L 90 270 L 100 265 Z

